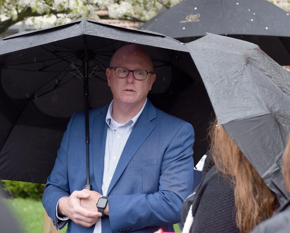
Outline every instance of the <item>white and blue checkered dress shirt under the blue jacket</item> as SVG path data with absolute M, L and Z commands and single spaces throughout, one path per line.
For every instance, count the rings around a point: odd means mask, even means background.
M 117 127 L 112 121 L 112 109 L 113 109 L 113 102 L 112 100 L 108 113 L 106 116 L 106 123 L 108 124 L 107 130 L 107 138 L 106 138 L 106 146 L 105 146 L 105 160 L 104 160 L 104 173 L 103 173 L 103 183 L 102 183 L 102 192 L 103 196 L 107 195 L 107 191 L 109 185 L 111 183 L 111 179 L 114 175 L 115 169 L 117 167 L 118 161 L 124 149 L 124 146 L 130 136 L 130 133 L 142 113 L 145 104 L 147 102 L 147 98 L 143 107 L 139 111 L 139 113 L 134 116 L 131 120 L 127 121 L 125 124 Z M 101 217 L 99 217 L 98 221 L 96 222 L 94 233 L 101 233 Z

